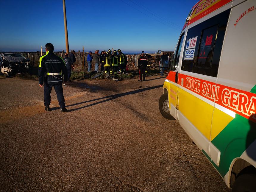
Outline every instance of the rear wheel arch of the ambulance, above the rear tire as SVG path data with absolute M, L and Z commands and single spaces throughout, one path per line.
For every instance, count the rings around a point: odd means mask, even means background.
M 256 168 L 248 163 L 246 160 L 238 158 L 235 160 L 230 176 L 230 187 L 233 188 L 234 183 L 238 177 L 243 174 L 254 174 L 256 175 Z

